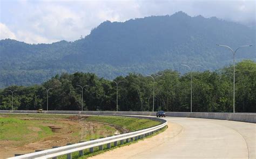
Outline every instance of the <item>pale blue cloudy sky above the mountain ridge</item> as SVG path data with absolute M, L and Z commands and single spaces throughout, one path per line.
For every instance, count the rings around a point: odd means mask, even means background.
M 256 1 L 29 1 L 0 0 L 0 39 L 29 44 L 74 41 L 106 20 L 126 21 L 147 16 L 217 17 L 255 26 Z

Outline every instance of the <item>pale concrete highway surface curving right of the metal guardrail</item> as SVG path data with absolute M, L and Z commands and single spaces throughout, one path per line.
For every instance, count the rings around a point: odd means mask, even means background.
M 169 128 L 152 138 L 92 158 L 256 158 L 256 124 L 166 117 Z

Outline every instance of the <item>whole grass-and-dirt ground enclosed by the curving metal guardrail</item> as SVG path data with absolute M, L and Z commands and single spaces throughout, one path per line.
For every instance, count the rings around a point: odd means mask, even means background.
M 111 124 L 118 119 L 112 117 L 108 122 L 107 118 L 100 117 L 0 114 L 0 158 L 134 131 L 132 125 L 123 128 L 120 122 Z M 127 124 L 129 119 L 119 121 Z

